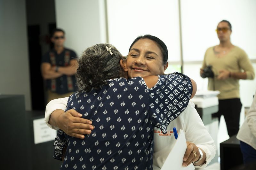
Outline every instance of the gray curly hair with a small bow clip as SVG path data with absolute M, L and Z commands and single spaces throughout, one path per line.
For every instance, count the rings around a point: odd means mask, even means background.
M 119 63 L 121 59 L 125 58 L 112 44 L 101 43 L 87 48 L 77 59 L 77 86 L 80 90 L 88 92 L 100 89 L 107 83 L 107 79 L 123 76 Z

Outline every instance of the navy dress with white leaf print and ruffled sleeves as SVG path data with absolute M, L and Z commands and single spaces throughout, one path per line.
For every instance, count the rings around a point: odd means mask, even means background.
M 54 158 L 61 160 L 67 146 L 60 169 L 153 169 L 153 128 L 166 133 L 192 93 L 190 79 L 181 73 L 159 75 L 150 89 L 142 77 L 107 81 L 100 90 L 69 97 L 66 111 L 75 109 L 95 129 L 84 139 L 59 130 Z

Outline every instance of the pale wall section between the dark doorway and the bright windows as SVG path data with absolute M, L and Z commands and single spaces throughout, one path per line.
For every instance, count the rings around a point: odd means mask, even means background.
M 56 26 L 65 30 L 65 46 L 75 50 L 78 56 L 91 45 L 106 43 L 103 3 L 102 0 L 55 0 Z

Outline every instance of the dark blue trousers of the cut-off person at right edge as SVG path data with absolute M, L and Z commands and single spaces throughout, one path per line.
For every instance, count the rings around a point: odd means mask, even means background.
M 243 153 L 244 164 L 249 164 L 256 161 L 256 150 L 252 146 L 240 141 L 240 148 Z

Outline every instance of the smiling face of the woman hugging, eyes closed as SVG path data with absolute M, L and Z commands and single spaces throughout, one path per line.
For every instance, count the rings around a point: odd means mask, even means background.
M 128 77 L 164 74 L 163 54 L 157 44 L 150 39 L 140 39 L 133 44 L 126 60 Z

